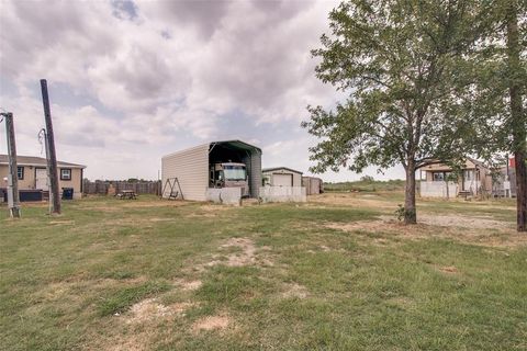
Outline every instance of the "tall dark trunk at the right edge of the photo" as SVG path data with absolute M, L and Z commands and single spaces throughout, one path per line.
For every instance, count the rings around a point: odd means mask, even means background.
M 518 2 L 511 0 L 507 15 L 507 49 L 508 49 L 508 75 L 511 95 L 511 124 L 513 132 L 513 152 L 516 167 L 516 210 L 517 230 L 527 231 L 527 170 L 526 149 L 527 132 L 526 122 L 522 111 L 522 78 L 517 75 L 522 69 L 519 60 L 519 31 L 518 31 Z

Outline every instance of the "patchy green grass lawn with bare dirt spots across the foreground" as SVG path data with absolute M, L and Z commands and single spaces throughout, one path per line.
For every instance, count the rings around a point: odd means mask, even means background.
M 0 207 L 1 350 L 527 350 L 514 202 Z

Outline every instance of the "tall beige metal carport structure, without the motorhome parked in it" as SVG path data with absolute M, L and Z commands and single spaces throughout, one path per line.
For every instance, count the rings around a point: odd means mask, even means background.
M 161 181 L 164 197 L 170 193 L 166 189 L 167 181 L 177 178 L 186 200 L 210 200 L 214 186 L 211 183 L 211 167 L 218 162 L 244 163 L 247 170 L 249 197 L 258 197 L 261 185 L 261 149 L 240 140 L 211 141 L 186 150 L 169 154 L 161 158 Z M 225 191 L 240 188 L 225 188 Z

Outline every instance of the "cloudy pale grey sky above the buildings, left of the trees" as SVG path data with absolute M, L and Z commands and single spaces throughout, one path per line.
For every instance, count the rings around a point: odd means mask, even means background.
M 19 155 L 42 152 L 46 78 L 58 158 L 90 179 L 157 179 L 162 155 L 224 139 L 262 148 L 264 167 L 307 172 L 305 107 L 341 99 L 310 54 L 337 3 L 0 0 L 0 106 L 14 113 Z

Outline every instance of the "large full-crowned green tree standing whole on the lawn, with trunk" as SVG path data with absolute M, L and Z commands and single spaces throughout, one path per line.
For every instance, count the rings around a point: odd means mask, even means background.
M 415 172 L 461 159 L 475 133 L 463 99 L 471 67 L 464 55 L 479 37 L 476 0 L 350 0 L 329 13 L 317 77 L 345 92 L 327 111 L 309 106 L 302 125 L 321 138 L 313 171 L 360 172 L 397 163 L 406 172 L 406 224 L 416 223 Z M 468 150 L 467 150 L 468 151 Z

